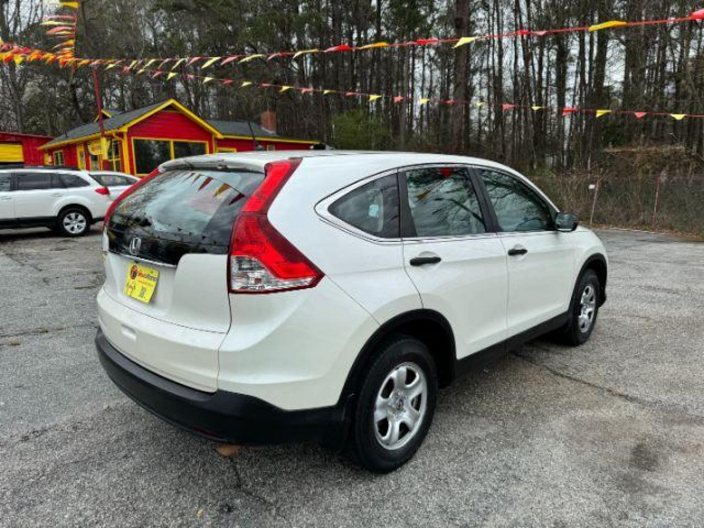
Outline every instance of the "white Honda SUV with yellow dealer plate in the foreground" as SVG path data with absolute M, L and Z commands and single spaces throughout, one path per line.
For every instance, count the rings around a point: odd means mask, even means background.
M 115 201 L 99 358 L 137 403 L 238 444 L 315 439 L 373 471 L 436 393 L 605 301 L 591 231 L 489 161 L 344 151 L 170 161 Z

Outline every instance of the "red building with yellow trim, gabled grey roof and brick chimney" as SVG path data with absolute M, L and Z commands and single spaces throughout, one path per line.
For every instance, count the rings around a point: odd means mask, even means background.
M 253 122 L 205 120 L 174 99 L 125 113 L 104 111 L 103 127 L 104 142 L 96 121 L 44 144 L 44 163 L 143 176 L 184 156 L 251 151 L 257 146 L 300 150 L 319 144 L 280 137 Z

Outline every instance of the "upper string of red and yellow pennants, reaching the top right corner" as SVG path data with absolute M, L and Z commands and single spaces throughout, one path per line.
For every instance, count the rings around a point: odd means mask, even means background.
M 78 8 L 80 6 L 79 1 L 61 1 L 60 6 L 62 8 L 73 10 L 72 15 L 54 15 L 47 19 L 44 24 L 52 25 L 54 27 L 49 30 L 53 36 L 63 37 L 65 42 L 65 49 L 68 50 L 70 46 L 75 46 L 75 25 L 77 20 Z M 206 70 L 214 66 L 225 66 L 228 64 L 243 64 L 255 60 L 271 61 L 275 58 L 301 58 L 304 56 L 309 56 L 312 54 L 331 54 L 346 51 L 368 51 L 372 49 L 396 49 L 396 48 L 406 48 L 412 46 L 436 46 L 439 44 L 453 44 L 453 48 L 458 48 L 460 46 L 465 46 L 472 42 L 477 42 L 481 40 L 488 39 L 509 39 L 518 37 L 546 37 L 553 34 L 565 34 L 574 32 L 597 32 L 608 29 L 617 28 L 628 28 L 628 27 L 648 27 L 656 25 L 674 25 L 682 24 L 687 22 L 692 22 L 695 20 L 704 20 L 704 9 L 694 11 L 693 13 L 684 17 L 672 17 L 672 18 L 662 18 L 656 20 L 636 20 L 636 21 L 625 21 L 625 20 L 608 20 L 605 22 L 593 24 L 593 25 L 582 25 L 576 27 L 558 27 L 548 30 L 530 30 L 530 29 L 519 29 L 511 32 L 498 33 L 498 34 L 482 34 L 474 35 L 470 37 L 454 37 L 454 38 L 427 38 L 427 39 L 415 39 L 406 42 L 373 42 L 371 44 L 362 44 L 359 46 L 351 46 L 348 44 L 336 44 L 334 46 L 329 46 L 327 48 L 320 49 L 303 49 L 297 51 L 275 51 L 273 53 L 254 53 L 254 54 L 237 54 L 229 56 L 192 56 L 192 57 L 170 57 L 170 58 L 108 58 L 101 59 L 104 63 L 117 65 L 131 65 L 132 68 L 149 68 L 152 65 L 158 63 L 158 69 L 163 70 L 168 67 L 170 70 L 176 70 L 180 66 L 192 66 L 194 68 L 199 68 L 201 70 Z M 61 46 L 61 44 L 60 44 Z M 62 58 L 68 58 L 70 61 L 95 61 L 95 59 L 81 59 L 75 58 L 72 55 L 73 52 L 66 52 L 65 56 Z M 70 62 L 73 63 L 73 62 Z

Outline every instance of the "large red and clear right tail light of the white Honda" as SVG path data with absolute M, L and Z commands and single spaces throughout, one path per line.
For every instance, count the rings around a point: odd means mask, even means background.
M 265 178 L 242 208 L 230 242 L 230 292 L 268 294 L 315 287 L 323 274 L 279 233 L 267 212 L 301 159 L 269 163 Z

